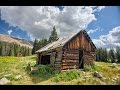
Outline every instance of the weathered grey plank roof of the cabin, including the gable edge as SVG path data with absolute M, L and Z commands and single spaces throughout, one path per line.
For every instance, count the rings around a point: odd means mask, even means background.
M 87 37 L 87 39 L 90 41 L 90 43 L 93 45 L 93 47 L 96 48 L 94 43 L 90 39 L 89 35 L 87 34 L 87 32 L 85 30 L 81 30 L 80 32 L 83 32 L 84 35 Z M 80 32 L 78 32 L 76 35 L 78 35 Z M 53 50 L 55 48 L 62 47 L 67 42 L 69 42 L 71 39 L 73 39 L 76 35 L 74 35 L 72 37 L 62 38 L 62 39 L 59 39 L 55 42 L 49 43 L 46 46 L 42 47 L 41 49 L 37 50 L 36 53 L 40 53 L 40 52 L 43 52 L 43 51 Z

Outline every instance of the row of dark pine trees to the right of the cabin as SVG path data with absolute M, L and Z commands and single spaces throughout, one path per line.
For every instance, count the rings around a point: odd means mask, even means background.
M 120 47 L 116 46 L 115 50 L 110 49 L 108 51 L 106 48 L 98 48 L 96 50 L 96 61 L 120 63 Z

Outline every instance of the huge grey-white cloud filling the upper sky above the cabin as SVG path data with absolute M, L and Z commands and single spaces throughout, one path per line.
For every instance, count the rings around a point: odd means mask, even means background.
M 32 37 L 49 37 L 56 26 L 60 37 L 71 36 L 97 20 L 94 12 L 103 6 L 65 6 L 62 11 L 54 6 L 2 6 L 2 19 L 18 26 Z M 95 9 L 94 9 L 95 8 Z

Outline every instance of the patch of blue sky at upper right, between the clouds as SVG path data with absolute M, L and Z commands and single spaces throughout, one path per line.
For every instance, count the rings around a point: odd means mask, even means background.
M 114 27 L 120 26 L 120 7 L 119 6 L 107 6 L 101 12 L 95 13 L 97 21 L 91 22 L 87 29 L 101 29 L 96 33 L 91 33 L 92 38 L 98 39 L 100 35 L 108 34 Z

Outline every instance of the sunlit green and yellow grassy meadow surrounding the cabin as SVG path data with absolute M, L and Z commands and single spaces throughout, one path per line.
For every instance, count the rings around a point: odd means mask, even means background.
M 55 72 L 51 65 L 39 65 L 37 71 L 28 73 L 28 63 L 35 66 L 36 56 L 0 57 L 0 79 L 6 77 L 12 85 L 120 85 L 120 66 L 109 67 L 111 63 L 95 62 L 94 68 L 85 66 L 85 73 L 76 69 Z M 93 76 L 95 71 L 102 74 L 102 80 Z M 22 77 L 16 79 L 17 75 Z

